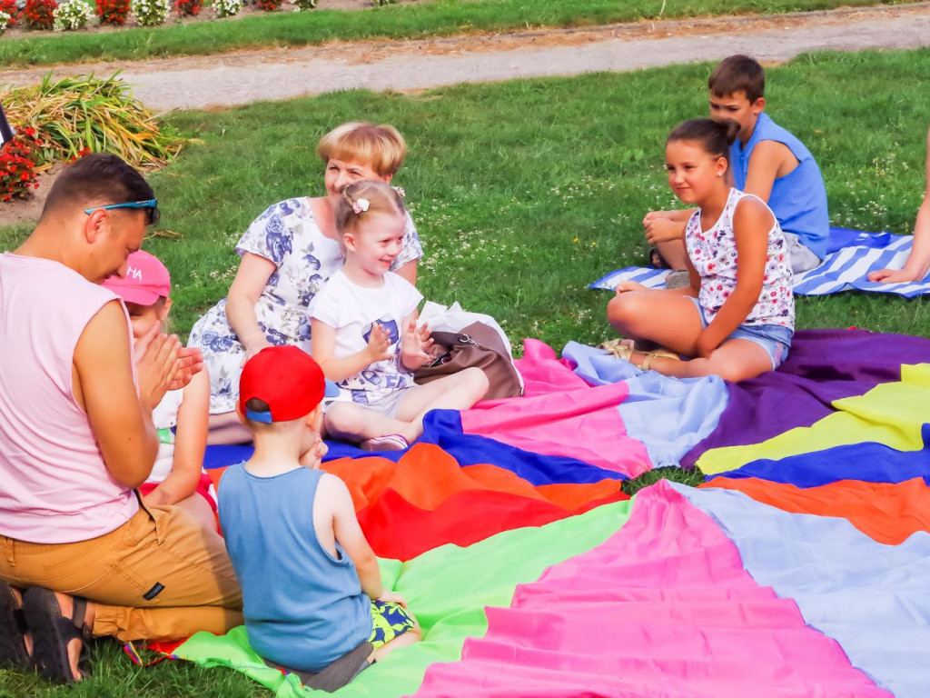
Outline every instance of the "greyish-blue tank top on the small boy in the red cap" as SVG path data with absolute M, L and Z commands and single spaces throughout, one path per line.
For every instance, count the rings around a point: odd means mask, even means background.
M 371 601 L 352 559 L 332 557 L 313 530 L 320 470 L 256 477 L 243 463 L 219 486 L 219 524 L 243 592 L 252 649 L 319 671 L 371 636 Z

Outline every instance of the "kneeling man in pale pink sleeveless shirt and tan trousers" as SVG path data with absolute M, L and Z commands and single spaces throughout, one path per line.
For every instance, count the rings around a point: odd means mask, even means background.
M 157 221 L 115 155 L 63 169 L 33 234 L 0 255 L 0 665 L 80 680 L 86 638 L 183 638 L 242 623 L 222 539 L 135 492 L 153 408 L 201 368 L 156 327 L 133 346 L 99 286 Z

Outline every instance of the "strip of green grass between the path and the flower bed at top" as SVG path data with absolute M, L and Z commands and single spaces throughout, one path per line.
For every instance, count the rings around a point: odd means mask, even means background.
M 235 20 L 177 22 L 116 32 L 36 34 L 0 41 L 0 66 L 145 60 L 326 41 L 400 39 L 665 18 L 895 5 L 901 0 L 439 0 L 366 10 L 286 12 Z

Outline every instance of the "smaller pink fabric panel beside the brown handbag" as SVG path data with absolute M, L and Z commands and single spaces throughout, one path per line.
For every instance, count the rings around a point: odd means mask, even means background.
M 642 442 L 627 436 L 618 406 L 626 383 L 591 387 L 543 342 L 527 340 L 519 368 L 526 394 L 487 400 L 461 413 L 462 429 L 520 449 L 566 456 L 636 477 L 652 468 Z

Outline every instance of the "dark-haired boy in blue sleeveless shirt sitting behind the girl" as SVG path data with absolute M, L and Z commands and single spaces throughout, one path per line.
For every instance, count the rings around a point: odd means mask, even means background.
M 758 61 L 724 59 L 708 79 L 711 118 L 739 124 L 730 148 L 733 185 L 756 195 L 775 213 L 785 234 L 791 270 L 813 269 L 827 255 L 830 217 L 827 189 L 804 143 L 764 114 L 765 74 Z M 650 211 L 645 237 L 672 269 L 684 269 L 684 225 L 692 210 Z

